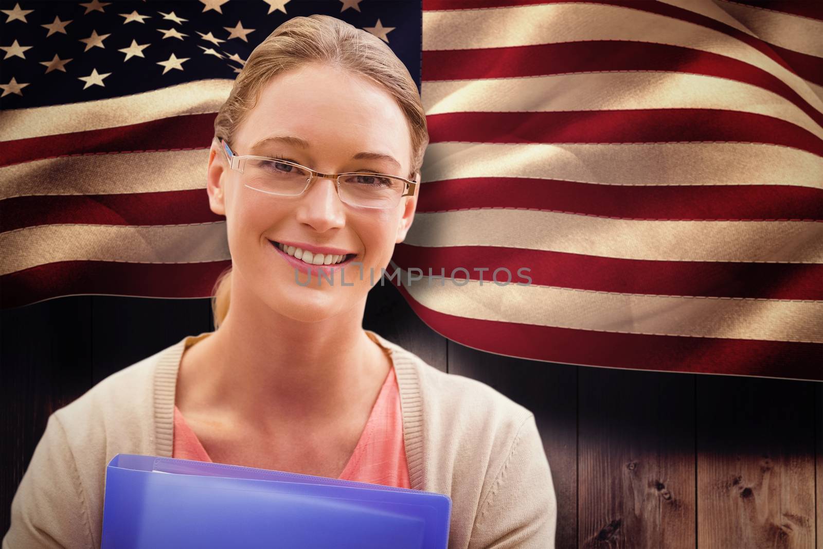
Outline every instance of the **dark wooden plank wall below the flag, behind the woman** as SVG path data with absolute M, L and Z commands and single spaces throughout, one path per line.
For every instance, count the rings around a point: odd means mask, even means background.
M 556 547 L 823 549 L 823 384 L 523 361 L 449 342 L 392 287 L 364 327 L 537 417 Z M 0 533 L 49 414 L 212 329 L 208 300 L 70 296 L 0 311 Z

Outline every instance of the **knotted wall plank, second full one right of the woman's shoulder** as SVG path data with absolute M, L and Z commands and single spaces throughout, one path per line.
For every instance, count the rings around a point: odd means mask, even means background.
M 695 547 L 695 375 L 580 366 L 579 547 Z

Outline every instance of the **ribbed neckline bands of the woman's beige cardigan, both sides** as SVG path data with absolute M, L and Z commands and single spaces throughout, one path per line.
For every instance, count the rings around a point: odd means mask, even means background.
M 364 330 L 392 359 L 398 379 L 400 407 L 402 410 L 403 442 L 409 483 L 413 490 L 426 490 L 423 459 L 423 409 L 421 397 L 421 359 L 399 345 L 389 342 L 378 333 Z M 210 336 L 214 332 L 203 332 L 197 336 L 187 336 L 160 351 L 154 375 L 154 422 L 155 451 L 157 456 L 170 458 L 174 441 L 174 392 L 180 359 L 186 347 Z

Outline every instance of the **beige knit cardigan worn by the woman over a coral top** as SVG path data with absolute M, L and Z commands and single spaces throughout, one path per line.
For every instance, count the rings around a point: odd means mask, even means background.
M 184 337 L 49 416 L 12 501 L 2 549 L 100 547 L 109 460 L 171 456 L 180 357 L 211 333 Z M 452 498 L 449 549 L 553 549 L 556 497 L 532 412 L 366 333 L 393 360 L 412 488 Z

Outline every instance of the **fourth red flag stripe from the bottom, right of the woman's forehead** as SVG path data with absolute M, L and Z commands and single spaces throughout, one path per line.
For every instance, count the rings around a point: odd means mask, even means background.
M 458 112 L 426 116 L 430 142 L 748 142 L 823 156 L 823 139 L 764 114 L 720 109 Z

